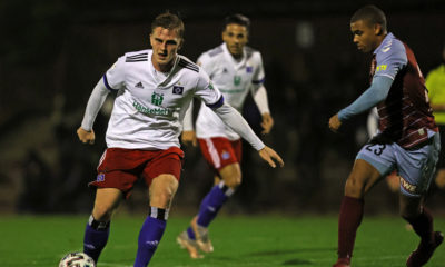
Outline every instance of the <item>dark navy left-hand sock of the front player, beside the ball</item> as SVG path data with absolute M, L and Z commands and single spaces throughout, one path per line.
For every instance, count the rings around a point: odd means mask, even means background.
M 83 253 L 98 261 L 100 253 L 105 248 L 110 235 L 110 221 L 97 221 L 90 216 L 85 229 Z

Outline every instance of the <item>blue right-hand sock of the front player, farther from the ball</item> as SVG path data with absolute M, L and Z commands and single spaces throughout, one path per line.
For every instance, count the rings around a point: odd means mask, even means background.
M 138 239 L 138 254 L 134 267 L 146 267 L 158 248 L 168 218 L 168 209 L 150 207 Z

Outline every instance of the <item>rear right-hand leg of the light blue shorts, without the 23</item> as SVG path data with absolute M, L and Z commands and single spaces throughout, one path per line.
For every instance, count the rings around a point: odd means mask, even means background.
M 397 149 L 397 169 L 400 176 L 400 192 L 407 197 L 422 197 L 426 194 L 435 174 L 441 149 L 439 135 L 436 134 L 419 148 Z

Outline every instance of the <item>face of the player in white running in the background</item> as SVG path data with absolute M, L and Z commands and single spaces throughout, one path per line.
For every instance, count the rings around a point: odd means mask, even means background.
M 228 24 L 222 31 L 222 40 L 226 42 L 229 52 L 239 58 L 243 56 L 243 48 L 248 41 L 247 28 L 240 24 Z

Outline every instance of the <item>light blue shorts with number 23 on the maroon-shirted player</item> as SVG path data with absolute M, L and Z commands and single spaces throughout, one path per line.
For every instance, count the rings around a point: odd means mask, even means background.
M 409 197 L 423 196 L 429 187 L 441 150 L 441 137 L 436 132 L 427 145 L 418 149 L 404 149 L 395 142 L 366 144 L 356 159 L 366 160 L 386 176 L 397 169 L 400 192 Z

